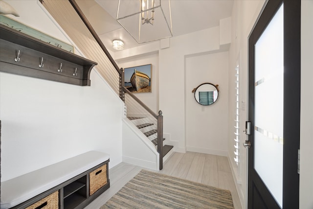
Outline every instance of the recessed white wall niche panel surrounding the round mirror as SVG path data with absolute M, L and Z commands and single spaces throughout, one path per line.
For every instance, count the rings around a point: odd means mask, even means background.
M 227 156 L 228 51 L 186 57 L 186 148 L 188 151 Z M 218 84 L 217 101 L 200 105 L 192 90 L 201 83 Z

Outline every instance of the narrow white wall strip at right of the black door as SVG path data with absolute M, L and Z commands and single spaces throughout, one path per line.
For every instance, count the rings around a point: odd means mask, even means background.
M 301 1 L 300 209 L 313 209 L 313 1 Z

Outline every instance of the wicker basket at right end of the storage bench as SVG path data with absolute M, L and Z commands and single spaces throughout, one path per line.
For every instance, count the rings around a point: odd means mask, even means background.
M 99 188 L 106 185 L 107 183 L 107 164 L 105 164 L 89 173 L 89 194 L 92 195 L 94 192 L 96 192 Z

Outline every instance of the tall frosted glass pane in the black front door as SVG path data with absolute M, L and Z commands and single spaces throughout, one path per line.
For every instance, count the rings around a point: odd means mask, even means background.
M 281 208 L 284 107 L 283 12 L 282 5 L 255 45 L 254 81 L 254 168 Z

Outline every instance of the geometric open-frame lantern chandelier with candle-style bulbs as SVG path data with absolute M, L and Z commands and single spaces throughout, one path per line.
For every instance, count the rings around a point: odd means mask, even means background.
M 116 20 L 138 44 L 173 36 L 170 0 L 119 0 Z

